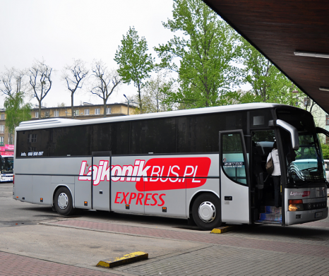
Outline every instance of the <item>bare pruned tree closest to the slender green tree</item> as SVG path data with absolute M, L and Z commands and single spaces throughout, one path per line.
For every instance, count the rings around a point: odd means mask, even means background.
M 100 61 L 94 61 L 92 64 L 92 88 L 90 92 L 103 100 L 104 117 L 106 117 L 106 105 L 109 96 L 119 87 L 121 78 L 116 70 L 109 71 L 106 64 Z

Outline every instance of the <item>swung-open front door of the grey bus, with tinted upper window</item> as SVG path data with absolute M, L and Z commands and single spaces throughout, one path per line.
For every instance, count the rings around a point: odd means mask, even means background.
M 251 223 L 249 166 L 242 130 L 220 131 L 222 222 Z

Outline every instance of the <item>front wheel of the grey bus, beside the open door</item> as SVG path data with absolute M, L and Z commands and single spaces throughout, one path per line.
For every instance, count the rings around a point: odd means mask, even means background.
M 220 199 L 213 193 L 203 193 L 194 200 L 193 220 L 203 230 L 220 227 Z

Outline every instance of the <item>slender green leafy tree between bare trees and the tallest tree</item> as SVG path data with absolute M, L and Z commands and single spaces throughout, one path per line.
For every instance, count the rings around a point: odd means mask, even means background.
M 145 37 L 139 37 L 135 28 L 129 28 L 126 37 L 123 35 L 121 46 L 115 54 L 118 73 L 124 83 L 133 85 L 138 90 L 138 104 L 140 113 L 143 113 L 141 92 L 145 86 L 145 80 L 150 78 L 150 72 L 154 68 L 154 59 L 151 54 L 147 54 L 148 44 Z

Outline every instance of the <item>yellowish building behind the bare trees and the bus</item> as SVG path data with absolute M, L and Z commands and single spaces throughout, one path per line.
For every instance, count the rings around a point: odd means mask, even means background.
M 88 102 L 83 102 L 78 106 L 73 107 L 74 119 L 85 120 L 85 119 L 96 119 L 104 117 L 104 105 L 103 104 L 90 104 Z M 129 103 L 121 104 L 107 104 L 105 109 L 105 114 L 107 117 L 111 116 L 125 116 L 128 114 L 135 114 L 136 104 Z M 71 119 L 71 106 L 69 107 L 41 107 L 41 118 L 67 118 Z M 39 118 L 39 107 L 32 108 L 31 110 L 31 120 L 37 120 Z M 6 124 L 6 114 L 5 109 L 0 109 L 0 146 L 5 144 L 10 144 L 10 138 L 8 131 L 5 127 Z M 13 133 L 13 141 L 15 140 Z

